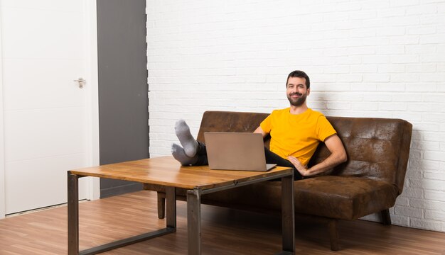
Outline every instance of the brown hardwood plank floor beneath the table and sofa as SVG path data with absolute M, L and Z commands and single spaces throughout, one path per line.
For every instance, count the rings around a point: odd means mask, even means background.
M 165 226 L 156 193 L 139 191 L 80 203 L 80 249 Z M 177 232 L 103 254 L 187 254 L 186 203 L 177 202 Z M 274 254 L 281 250 L 279 217 L 202 206 L 203 254 Z M 296 254 L 441 254 L 445 233 L 358 220 L 338 224 L 340 251 L 329 249 L 328 229 L 297 220 Z M 67 208 L 0 220 L 0 254 L 67 254 Z

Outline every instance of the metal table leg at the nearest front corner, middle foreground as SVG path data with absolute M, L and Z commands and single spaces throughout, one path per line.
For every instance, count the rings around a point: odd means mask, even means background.
M 201 254 L 201 191 L 187 191 L 188 254 Z

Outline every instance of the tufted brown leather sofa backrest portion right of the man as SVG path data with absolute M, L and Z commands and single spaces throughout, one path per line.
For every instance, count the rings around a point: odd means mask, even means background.
M 336 166 L 332 175 L 358 176 L 386 181 L 402 193 L 407 171 L 412 125 L 390 118 L 329 117 L 348 154 L 348 161 Z M 311 164 L 321 162 L 329 152 L 318 145 Z

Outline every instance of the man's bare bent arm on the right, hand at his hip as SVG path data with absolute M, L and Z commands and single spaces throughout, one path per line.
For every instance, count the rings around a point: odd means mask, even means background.
M 331 155 L 324 159 L 323 162 L 312 166 L 310 169 L 307 169 L 307 166 L 302 165 L 301 162 L 296 159 L 296 157 L 289 156 L 289 161 L 294 164 L 296 170 L 298 170 L 302 176 L 321 174 L 348 159 L 348 156 L 346 156 L 345 147 L 343 147 L 343 143 L 338 135 L 331 135 L 330 137 L 326 138 L 324 143 L 331 152 Z

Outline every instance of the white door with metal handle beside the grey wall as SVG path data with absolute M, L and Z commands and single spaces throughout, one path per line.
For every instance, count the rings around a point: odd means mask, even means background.
M 1 0 L 6 215 L 66 203 L 67 170 L 99 162 L 95 2 Z

